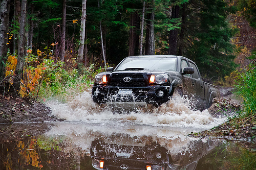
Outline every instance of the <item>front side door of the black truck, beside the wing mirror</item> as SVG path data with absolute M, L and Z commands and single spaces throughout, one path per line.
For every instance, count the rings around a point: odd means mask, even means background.
M 181 60 L 181 71 L 183 72 L 184 67 L 188 67 L 187 60 Z M 193 85 L 194 79 L 192 79 L 191 75 L 183 75 L 182 76 L 184 94 L 188 95 L 188 98 L 191 98 L 196 93 L 195 85 Z M 195 84 L 195 83 L 194 83 Z

